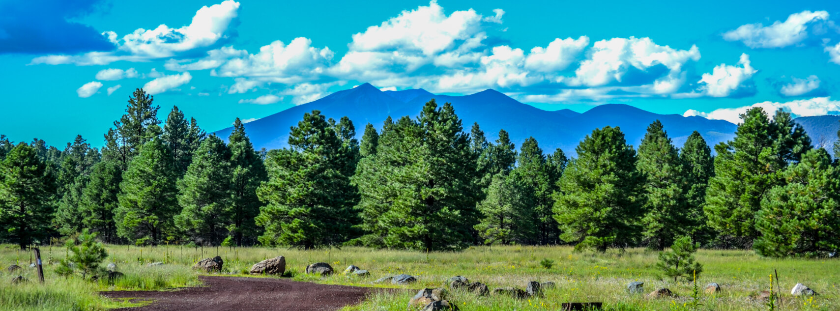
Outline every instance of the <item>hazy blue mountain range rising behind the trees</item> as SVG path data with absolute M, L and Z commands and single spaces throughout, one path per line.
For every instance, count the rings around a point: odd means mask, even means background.
M 303 113 L 318 109 L 328 118 L 343 116 L 353 120 L 356 134 L 360 138 L 365 124 L 381 129 L 390 115 L 399 119 L 408 115 L 416 117 L 423 103 L 435 99 L 438 104 L 452 103 L 455 113 L 463 120 L 464 130 L 470 131 L 474 122 L 480 124 L 488 140 L 496 140 L 499 129 L 505 129 L 517 145 L 529 136 L 539 142 L 543 152 L 554 152 L 561 148 L 568 155 L 575 155 L 575 146 L 592 129 L 606 125 L 619 126 L 627 136 L 628 143 L 637 145 L 644 137 L 648 124 L 659 119 L 668 131 L 675 145 L 682 146 L 694 130 L 700 132 L 709 145 L 730 140 L 737 126 L 723 120 L 702 117 L 683 117 L 679 114 L 657 114 L 623 104 L 606 104 L 591 108 L 585 113 L 569 109 L 545 111 L 495 90 L 486 90 L 466 96 L 435 95 L 422 89 L 405 91 L 381 91 L 368 83 L 349 90 L 334 92 L 312 103 L 271 114 L 245 124 L 255 148 L 276 149 L 286 146 L 289 129 L 302 119 Z M 215 132 L 227 138 L 232 128 Z

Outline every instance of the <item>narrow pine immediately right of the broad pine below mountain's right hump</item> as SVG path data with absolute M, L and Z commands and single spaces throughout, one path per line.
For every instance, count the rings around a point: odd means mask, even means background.
M 664 250 L 688 228 L 685 172 L 677 148 L 659 120 L 648 125 L 638 146 L 636 168 L 644 174 L 643 237 L 648 247 Z

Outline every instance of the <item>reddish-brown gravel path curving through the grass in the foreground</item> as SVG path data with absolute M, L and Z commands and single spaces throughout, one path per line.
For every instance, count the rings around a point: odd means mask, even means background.
M 200 277 L 204 286 L 177 291 L 102 292 L 109 298 L 143 298 L 155 303 L 127 311 L 338 310 L 360 303 L 376 288 L 323 285 L 262 277 Z

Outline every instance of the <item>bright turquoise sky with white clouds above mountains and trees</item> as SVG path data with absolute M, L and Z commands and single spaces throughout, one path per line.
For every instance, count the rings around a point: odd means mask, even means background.
M 546 110 L 840 114 L 837 1 L 0 0 L 0 134 L 102 145 L 143 87 L 207 131 L 370 82 Z M 492 109 L 492 107 L 488 107 Z

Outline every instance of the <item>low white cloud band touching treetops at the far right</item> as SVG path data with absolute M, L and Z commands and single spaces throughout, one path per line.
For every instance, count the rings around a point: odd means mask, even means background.
M 782 109 L 790 113 L 794 118 L 810 117 L 815 115 L 840 114 L 840 101 L 833 101 L 831 98 L 797 99 L 785 103 L 762 102 L 753 103 L 750 106 L 738 108 L 720 108 L 711 113 L 702 113 L 693 109 L 685 111 L 684 116 L 699 115 L 706 119 L 727 120 L 733 124 L 741 122 L 740 114 L 747 112 L 749 108 L 760 107 L 769 115 L 776 110 Z

